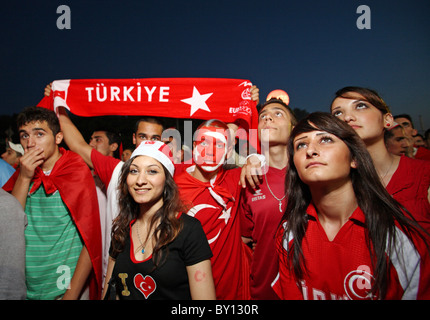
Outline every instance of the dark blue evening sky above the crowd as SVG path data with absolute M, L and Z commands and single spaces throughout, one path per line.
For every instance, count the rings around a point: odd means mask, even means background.
M 57 7 L 71 9 L 59 30 Z M 356 26 L 371 9 L 371 29 Z M 327 111 L 347 85 L 377 90 L 430 128 L 430 1 L 9 1 L 2 4 L 0 114 L 56 79 L 249 79 L 261 98 Z

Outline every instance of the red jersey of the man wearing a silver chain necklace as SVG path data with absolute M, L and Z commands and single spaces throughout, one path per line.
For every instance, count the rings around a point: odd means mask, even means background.
M 271 283 L 278 273 L 276 230 L 287 206 L 285 197 L 286 170 L 269 167 L 260 188 L 243 191 L 239 213 L 242 236 L 252 238 L 254 252 L 251 262 L 251 298 L 277 300 Z M 267 180 L 266 180 L 267 178 Z M 269 183 L 270 190 L 267 186 Z M 273 194 L 282 200 L 277 200 Z M 279 206 L 281 204 L 281 207 Z

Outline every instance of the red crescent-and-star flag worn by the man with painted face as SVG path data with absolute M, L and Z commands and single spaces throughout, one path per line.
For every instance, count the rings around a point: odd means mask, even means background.
M 221 170 L 211 182 L 202 182 L 188 172 L 175 175 L 188 214 L 199 219 L 213 257 L 212 273 L 217 299 L 249 299 L 249 256 L 240 235 L 238 216 L 241 169 Z

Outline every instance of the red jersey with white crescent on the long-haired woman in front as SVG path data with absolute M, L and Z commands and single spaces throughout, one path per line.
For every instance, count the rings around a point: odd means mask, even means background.
M 374 276 L 361 209 L 353 212 L 333 241 L 328 240 L 315 207 L 310 205 L 306 213 L 309 222 L 302 250 L 307 271 L 296 284 L 286 260 L 286 249 L 293 238 L 282 239 L 284 230 L 280 228 L 279 274 L 273 282 L 276 293 L 282 299 L 295 300 L 379 299 L 369 293 Z M 420 238 L 412 243 L 399 228 L 396 229 L 396 250 L 387 256 L 389 271 L 385 299 L 429 299 L 427 248 Z

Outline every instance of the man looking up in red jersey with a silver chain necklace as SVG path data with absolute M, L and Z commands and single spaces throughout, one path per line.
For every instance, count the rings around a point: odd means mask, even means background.
M 256 188 L 249 185 L 243 190 L 239 206 L 242 239 L 254 251 L 250 283 L 254 300 L 279 299 L 271 287 L 278 272 L 275 234 L 287 205 L 287 143 L 296 122 L 293 111 L 281 99 L 272 98 L 259 110 L 258 138 L 266 159 L 265 173 Z

